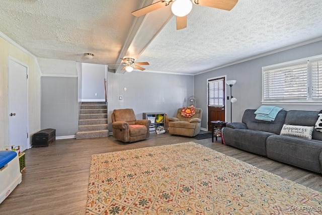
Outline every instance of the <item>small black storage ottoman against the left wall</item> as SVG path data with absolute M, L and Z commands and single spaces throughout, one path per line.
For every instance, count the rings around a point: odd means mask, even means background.
M 48 145 L 56 140 L 56 129 L 47 128 L 32 136 L 33 147 L 48 147 Z

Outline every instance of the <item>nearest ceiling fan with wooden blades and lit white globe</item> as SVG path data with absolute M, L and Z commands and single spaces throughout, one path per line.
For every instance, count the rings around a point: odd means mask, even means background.
M 230 11 L 238 2 L 238 0 L 191 0 L 195 5 L 201 5 L 211 8 Z M 192 10 L 190 0 L 161 0 L 151 5 L 148 5 L 139 10 L 133 11 L 132 15 L 140 17 L 160 8 L 164 8 L 172 4 L 172 13 L 177 17 L 177 30 L 187 27 L 187 17 Z

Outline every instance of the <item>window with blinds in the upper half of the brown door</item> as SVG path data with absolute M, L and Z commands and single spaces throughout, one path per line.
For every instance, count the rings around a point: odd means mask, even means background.
M 208 80 L 208 106 L 224 106 L 224 78 Z

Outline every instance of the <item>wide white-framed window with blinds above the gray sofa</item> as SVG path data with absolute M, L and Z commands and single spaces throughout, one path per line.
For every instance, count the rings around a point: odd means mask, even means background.
M 263 67 L 263 101 L 322 100 L 322 56 L 319 57 Z

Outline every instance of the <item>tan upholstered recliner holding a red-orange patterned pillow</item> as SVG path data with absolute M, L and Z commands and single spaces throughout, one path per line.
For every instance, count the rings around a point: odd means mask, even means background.
M 182 116 L 183 108 L 177 110 L 176 117 L 170 117 L 169 120 L 169 133 L 195 136 L 200 132 L 202 109 L 195 108 L 195 114 L 191 117 Z

